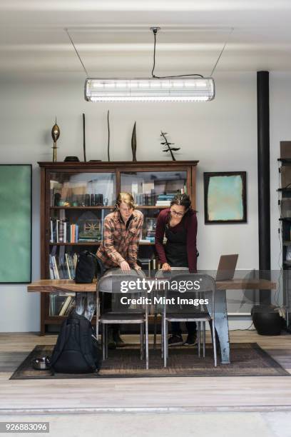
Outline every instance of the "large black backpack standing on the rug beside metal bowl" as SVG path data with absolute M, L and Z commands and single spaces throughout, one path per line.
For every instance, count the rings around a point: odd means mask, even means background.
M 91 322 L 72 313 L 63 321 L 51 356 L 51 369 L 59 373 L 93 373 L 101 368 L 102 353 Z

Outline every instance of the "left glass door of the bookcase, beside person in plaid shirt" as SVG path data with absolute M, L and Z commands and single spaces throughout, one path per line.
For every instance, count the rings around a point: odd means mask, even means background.
M 104 218 L 116 201 L 116 175 L 55 171 L 48 176 L 49 277 L 73 279 L 78 253 L 96 253 L 101 243 Z

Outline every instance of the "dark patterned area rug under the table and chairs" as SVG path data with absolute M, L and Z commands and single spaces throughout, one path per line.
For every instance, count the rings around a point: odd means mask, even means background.
M 31 366 L 33 358 L 50 356 L 51 346 L 36 346 L 14 371 L 10 379 L 57 379 L 57 378 L 140 378 L 153 376 L 290 376 L 277 361 L 263 351 L 257 343 L 232 343 L 230 364 L 213 363 L 213 349 L 206 346 L 205 358 L 198 358 L 197 348 L 175 347 L 169 349 L 167 368 L 163 368 L 160 349 L 150 348 L 149 369 L 141 361 L 138 345 L 108 351 L 98 374 L 65 374 L 36 371 Z

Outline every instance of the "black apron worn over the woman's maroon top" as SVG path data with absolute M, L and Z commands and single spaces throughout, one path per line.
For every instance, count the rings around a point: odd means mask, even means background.
M 184 218 L 182 220 L 184 225 L 183 231 L 174 233 L 170 231 L 168 225 L 165 227 L 165 236 L 167 238 L 165 256 L 171 267 L 188 267 L 187 231 L 185 229 Z

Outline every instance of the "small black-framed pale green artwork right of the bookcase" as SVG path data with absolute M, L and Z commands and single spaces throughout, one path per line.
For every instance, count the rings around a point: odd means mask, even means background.
M 205 223 L 245 223 L 247 189 L 245 171 L 204 173 Z

